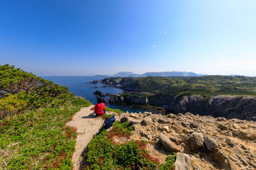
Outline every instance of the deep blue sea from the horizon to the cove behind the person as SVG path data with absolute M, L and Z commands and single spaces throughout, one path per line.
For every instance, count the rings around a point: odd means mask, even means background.
M 102 83 L 88 83 L 92 82 L 93 80 L 102 80 L 107 77 L 103 76 L 43 76 L 44 79 L 49 79 L 50 81 L 53 81 L 54 83 L 63 85 L 68 87 L 70 92 L 74 93 L 76 96 L 82 96 L 86 98 L 88 101 L 90 101 L 93 104 L 97 104 L 97 97 L 93 94 L 95 91 L 99 90 L 102 93 L 110 93 L 110 94 L 117 94 L 122 93 L 121 89 L 115 88 L 115 87 L 109 87 L 109 84 L 102 84 Z M 102 86 L 107 86 L 106 88 L 103 88 Z M 98 87 L 98 88 L 94 88 Z M 107 100 L 110 97 L 103 97 Z M 105 103 L 106 104 L 106 103 Z M 154 113 L 154 110 L 145 110 L 141 107 L 135 107 L 133 109 L 130 109 L 130 105 L 126 104 L 106 104 L 109 108 L 112 109 L 120 109 L 122 111 L 128 111 L 128 112 L 144 112 L 144 111 L 150 111 Z

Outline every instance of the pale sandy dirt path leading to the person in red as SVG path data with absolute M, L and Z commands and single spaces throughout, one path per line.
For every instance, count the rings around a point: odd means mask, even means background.
M 73 116 L 73 119 L 66 124 L 67 126 L 75 127 L 78 133 L 72 159 L 74 170 L 79 170 L 80 166 L 84 165 L 85 162 L 82 157 L 83 150 L 91 141 L 93 135 L 99 131 L 104 121 L 101 118 L 96 119 L 95 114 L 90 110 L 92 107 L 94 107 L 94 105 L 81 108 L 81 110 Z

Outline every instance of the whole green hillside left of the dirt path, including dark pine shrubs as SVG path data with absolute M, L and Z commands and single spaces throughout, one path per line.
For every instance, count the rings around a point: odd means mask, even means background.
M 65 126 L 85 98 L 68 88 L 0 66 L 0 169 L 73 169 L 76 129 Z

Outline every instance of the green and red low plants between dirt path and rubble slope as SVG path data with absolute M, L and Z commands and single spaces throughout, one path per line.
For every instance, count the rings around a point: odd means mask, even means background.
M 172 170 L 174 156 L 168 156 L 165 164 L 150 156 L 146 150 L 147 141 L 130 141 L 124 144 L 113 142 L 114 136 L 129 138 L 131 125 L 115 122 L 112 130 L 97 133 L 85 148 L 85 165 L 82 169 L 159 169 Z

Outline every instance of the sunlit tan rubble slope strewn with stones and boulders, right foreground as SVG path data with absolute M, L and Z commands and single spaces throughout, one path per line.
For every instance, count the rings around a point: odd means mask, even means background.
M 161 162 L 176 152 L 176 170 L 256 169 L 256 122 L 185 114 L 122 113 L 120 122 L 132 124 L 130 139 L 146 140 L 147 150 Z

